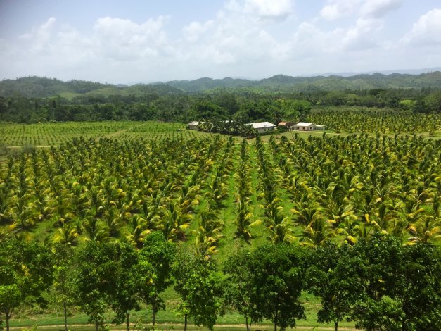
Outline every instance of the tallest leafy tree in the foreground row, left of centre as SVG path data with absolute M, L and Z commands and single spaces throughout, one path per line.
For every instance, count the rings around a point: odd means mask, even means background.
M 167 242 L 160 231 L 146 237 L 139 253 L 139 266 L 135 267 L 139 286 L 139 296 L 152 306 L 152 322 L 156 323 L 156 313 L 165 308 L 160 293 L 172 285 L 171 268 L 175 258 L 172 242 Z

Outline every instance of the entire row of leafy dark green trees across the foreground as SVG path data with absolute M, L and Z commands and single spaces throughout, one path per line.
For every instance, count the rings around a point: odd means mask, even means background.
M 130 313 L 151 307 L 151 323 L 166 309 L 161 297 L 174 286 L 177 311 L 210 330 L 226 311 L 240 313 L 247 327 L 271 320 L 274 330 L 305 318 L 302 292 L 321 300 L 319 323 L 352 320 L 362 330 L 440 330 L 441 251 L 429 244 L 403 246 L 377 233 L 355 244 L 326 242 L 307 248 L 279 242 L 250 250 L 241 246 L 218 266 L 200 254 L 151 232 L 141 247 L 89 241 L 73 248 L 36 242 L 0 242 L 0 311 L 6 320 L 23 304 L 79 306 L 96 330 L 104 313 L 127 324 Z M 48 295 L 43 295 L 49 293 Z

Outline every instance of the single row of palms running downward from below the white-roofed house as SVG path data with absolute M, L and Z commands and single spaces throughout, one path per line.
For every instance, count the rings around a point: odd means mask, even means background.
M 259 170 L 259 183 L 257 185 L 260 190 L 259 197 L 263 204 L 260 208 L 264 210 L 265 225 L 269 230 L 271 241 L 276 242 L 293 242 L 294 229 L 293 223 L 281 206 L 279 197 L 279 173 L 271 162 L 271 155 L 268 154 L 262 139 L 256 137 L 257 150 L 257 167 Z

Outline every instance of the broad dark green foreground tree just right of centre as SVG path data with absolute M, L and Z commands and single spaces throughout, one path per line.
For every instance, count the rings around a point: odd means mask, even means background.
M 277 331 L 277 327 L 295 327 L 296 318 L 306 318 L 299 301 L 305 285 L 304 254 L 299 247 L 284 243 L 261 246 L 250 257 L 250 269 L 253 320 L 267 318 Z

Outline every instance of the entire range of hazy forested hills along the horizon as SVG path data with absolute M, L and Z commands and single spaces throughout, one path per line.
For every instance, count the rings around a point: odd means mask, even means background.
M 83 80 L 63 82 L 55 78 L 22 77 L 16 80 L 0 81 L 0 96 L 16 95 L 27 98 L 62 96 L 73 99 L 76 96 L 141 96 L 146 94 L 182 94 L 185 92 L 204 92 L 213 89 L 252 89 L 255 92 L 314 92 L 336 90 L 369 89 L 421 89 L 441 88 L 441 72 L 421 75 L 398 74 L 342 76 L 291 77 L 276 75 L 263 80 L 245 80 L 226 77 L 222 80 L 208 77 L 198 80 L 173 80 L 166 83 L 138 85 L 110 85 Z

